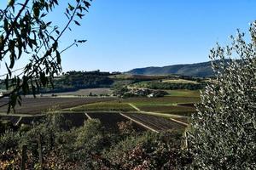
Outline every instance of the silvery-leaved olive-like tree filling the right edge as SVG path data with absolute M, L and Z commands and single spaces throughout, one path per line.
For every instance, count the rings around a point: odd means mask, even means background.
M 229 46 L 212 48 L 216 80 L 201 93 L 192 117 L 190 169 L 256 169 L 256 22 L 251 42 L 238 31 Z M 225 58 L 239 56 L 240 59 Z

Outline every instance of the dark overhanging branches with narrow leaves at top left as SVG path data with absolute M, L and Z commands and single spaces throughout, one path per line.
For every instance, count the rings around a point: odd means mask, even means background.
M 61 73 L 61 53 L 85 42 L 74 40 L 69 47 L 59 49 L 60 38 L 67 30 L 71 31 L 72 23 L 80 26 L 78 20 L 88 12 L 90 3 L 85 0 L 67 3 L 67 23 L 61 28 L 47 20 L 58 2 L 9 0 L 7 7 L 0 9 L 0 62 L 8 71 L 0 76 L 4 78 L 0 83 L 4 83 L 9 90 L 0 99 L 9 98 L 9 102 L 4 104 L 9 105 L 9 111 L 15 108 L 17 102 L 21 103 L 21 94 L 36 94 L 40 87 L 52 85 L 53 77 Z M 17 61 L 27 56 L 29 61 L 26 66 L 15 70 Z

